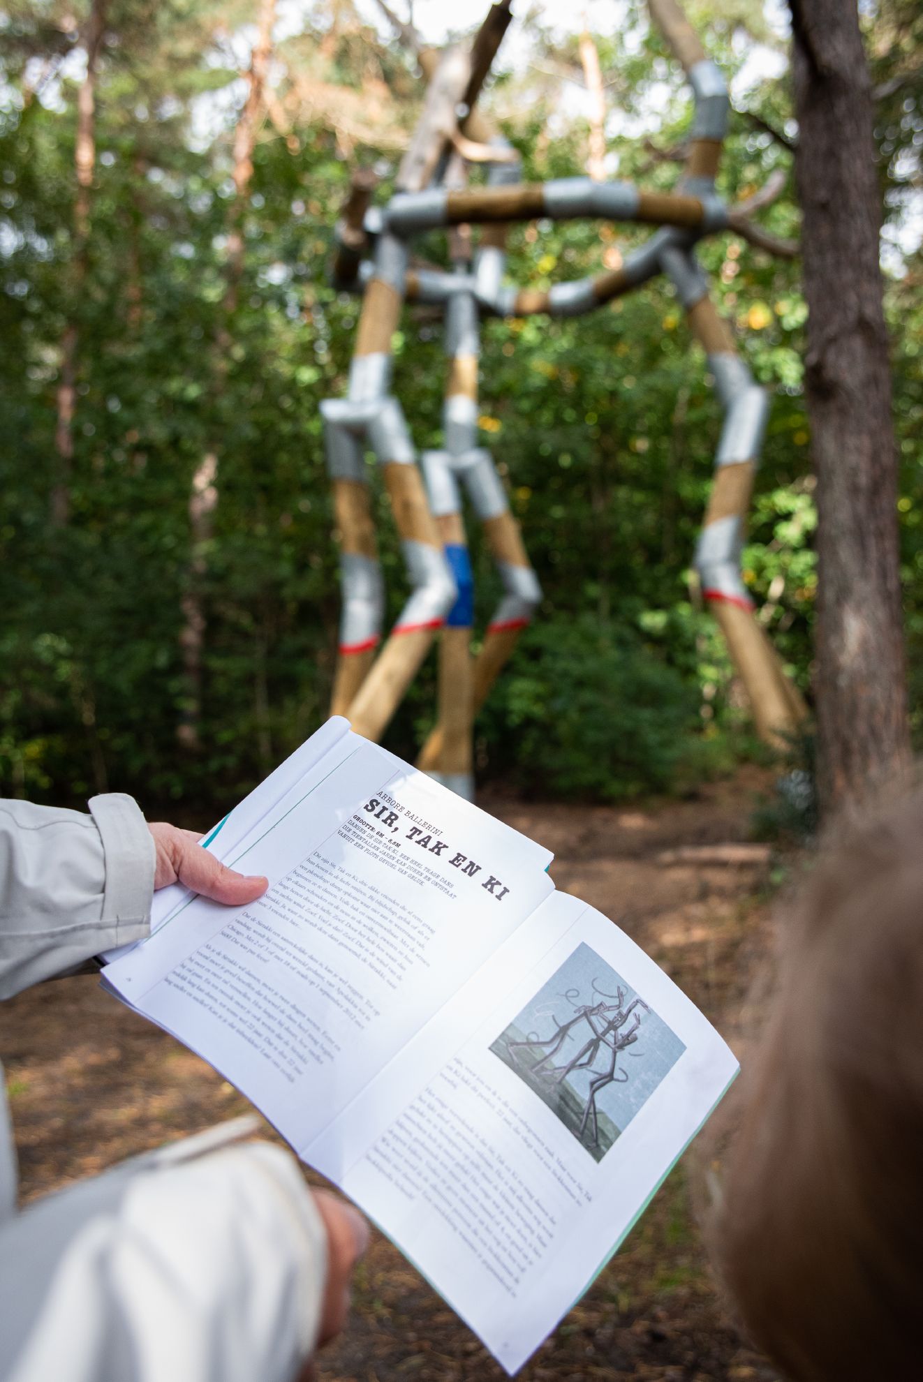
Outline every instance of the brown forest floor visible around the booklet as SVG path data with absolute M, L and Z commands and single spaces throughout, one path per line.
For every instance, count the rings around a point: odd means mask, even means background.
M 687 802 L 580 807 L 488 796 L 481 804 L 555 853 L 558 887 L 612 916 L 741 1054 L 742 1001 L 770 945 L 772 862 L 746 840 L 768 775 L 746 768 Z M 678 851 L 678 853 L 677 853 Z M 734 860 L 734 862 L 727 862 Z M 225 1081 L 93 981 L 70 978 L 0 1010 L 21 1186 L 32 1200 L 137 1151 L 246 1111 Z M 315 1179 L 315 1177 L 312 1177 Z M 754 1379 L 774 1370 L 735 1332 L 691 1209 L 689 1157 L 522 1382 Z M 381 1236 L 356 1274 L 347 1334 L 319 1382 L 492 1382 L 478 1341 Z

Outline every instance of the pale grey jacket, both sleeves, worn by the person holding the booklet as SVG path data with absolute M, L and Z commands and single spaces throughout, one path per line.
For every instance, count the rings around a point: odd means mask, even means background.
M 131 797 L 90 815 L 0 800 L 0 996 L 146 936 L 153 872 Z M 199 1159 L 192 1139 L 17 1215 L 1 1124 L 4 1382 L 292 1382 L 316 1343 L 326 1233 L 286 1153 Z

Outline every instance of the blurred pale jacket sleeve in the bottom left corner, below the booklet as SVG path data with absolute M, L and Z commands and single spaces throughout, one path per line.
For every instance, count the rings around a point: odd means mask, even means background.
M 0 1227 L 0 1378 L 293 1382 L 325 1282 L 323 1223 L 279 1147 L 119 1166 Z

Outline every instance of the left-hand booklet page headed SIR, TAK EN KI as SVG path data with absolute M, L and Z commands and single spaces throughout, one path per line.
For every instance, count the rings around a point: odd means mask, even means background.
M 229 860 L 265 897 L 195 898 L 105 970 L 296 1147 L 553 890 L 542 846 L 358 735 L 336 752 Z

